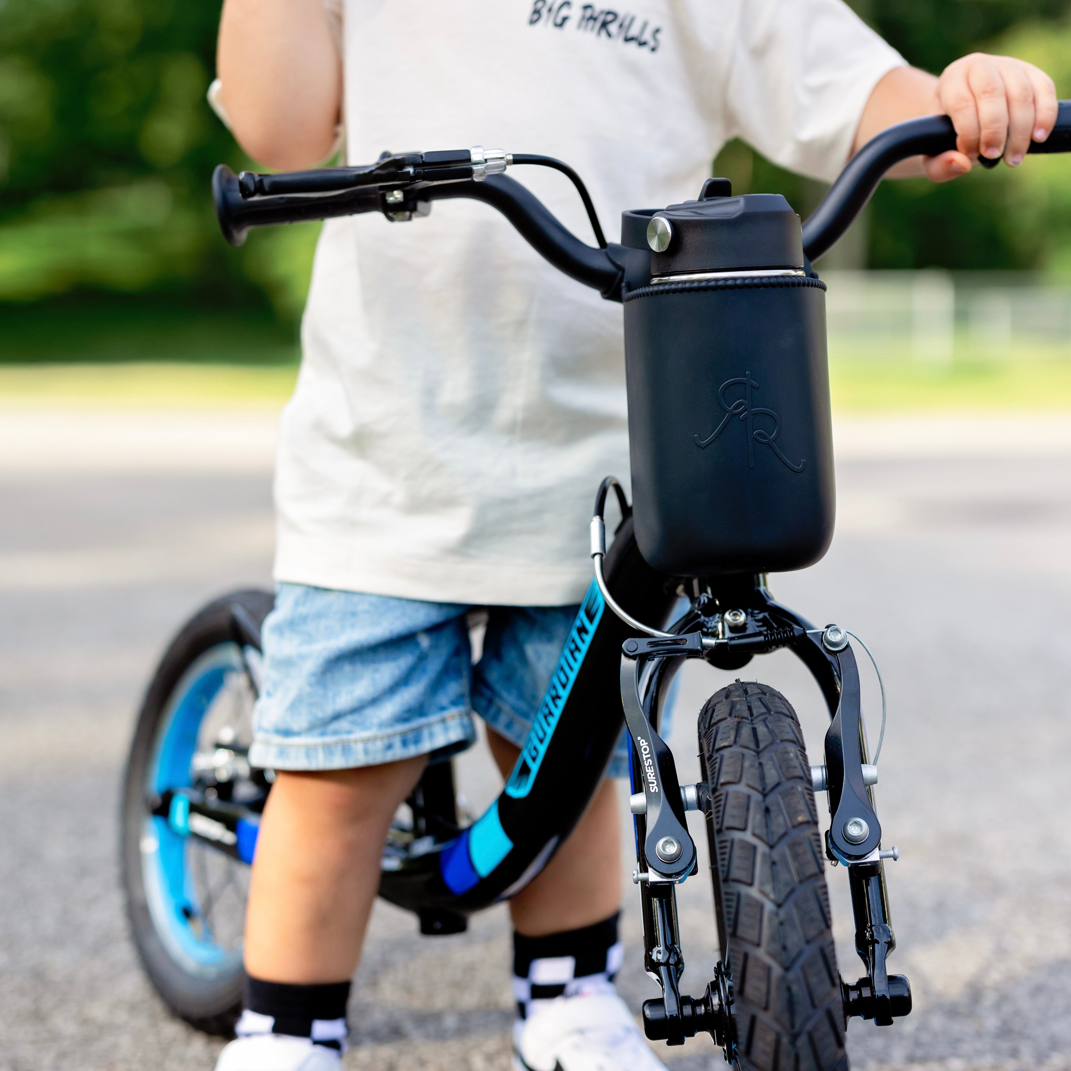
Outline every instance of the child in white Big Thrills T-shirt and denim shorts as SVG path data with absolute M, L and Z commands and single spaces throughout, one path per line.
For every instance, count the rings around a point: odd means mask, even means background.
M 900 174 L 1017 166 L 1052 81 L 969 56 L 908 67 L 841 0 L 226 0 L 217 104 L 281 169 L 482 142 L 556 155 L 602 218 L 694 197 L 742 136 L 832 179 L 892 123 L 949 114 L 957 149 Z M 524 181 L 576 232 L 560 177 Z M 397 804 L 431 753 L 486 721 L 507 773 L 589 582 L 599 480 L 627 471 L 620 310 L 560 276 L 485 206 L 390 226 L 329 221 L 282 421 L 280 583 L 252 759 L 277 780 L 246 924 L 247 1007 L 218 1071 L 331 1071 Z M 470 665 L 466 610 L 489 607 Z M 608 771 L 625 769 L 623 751 Z M 607 780 L 510 904 L 518 1064 L 659 1071 L 616 995 Z M 537 990 L 532 990 L 532 985 Z

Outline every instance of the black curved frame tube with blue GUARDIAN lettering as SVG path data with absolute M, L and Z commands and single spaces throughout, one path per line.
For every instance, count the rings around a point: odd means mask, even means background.
M 678 601 L 676 582 L 640 557 L 630 518 L 607 567 L 615 599 L 632 613 L 663 620 Z M 436 842 L 435 830 L 455 821 L 451 779 L 429 768 L 423 798 L 410 801 L 414 826 L 426 832 L 389 857 L 380 881 L 386 900 L 420 916 L 422 932 L 456 932 L 466 915 L 518 892 L 572 831 L 621 731 L 621 706 L 606 685 L 631 635 L 592 583 L 501 794 L 467 829 L 454 826 L 446 843 Z

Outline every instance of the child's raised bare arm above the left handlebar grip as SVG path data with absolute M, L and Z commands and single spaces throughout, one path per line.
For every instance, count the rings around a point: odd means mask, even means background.
M 231 130 L 254 160 L 297 170 L 331 151 L 342 61 L 323 0 L 226 0 L 216 69 Z

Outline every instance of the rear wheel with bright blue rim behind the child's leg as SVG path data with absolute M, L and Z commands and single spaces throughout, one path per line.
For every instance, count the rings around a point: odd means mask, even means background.
M 138 954 L 165 1004 L 227 1035 L 241 1012 L 248 866 L 152 813 L 168 789 L 263 805 L 270 773 L 251 769 L 255 694 L 236 642 L 237 603 L 259 625 L 267 591 L 236 591 L 176 636 L 138 714 L 123 786 L 122 877 Z

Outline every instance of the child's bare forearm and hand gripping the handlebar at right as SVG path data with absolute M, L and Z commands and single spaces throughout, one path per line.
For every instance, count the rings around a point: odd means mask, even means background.
M 896 67 L 875 87 L 863 109 L 853 152 L 893 123 L 947 115 L 959 135 L 956 151 L 906 161 L 894 176 L 926 175 L 934 182 L 966 175 L 981 155 L 1011 167 L 1023 162 L 1031 138 L 1044 141 L 1056 122 L 1056 87 L 1032 63 L 1008 56 L 964 56 L 940 78 Z

